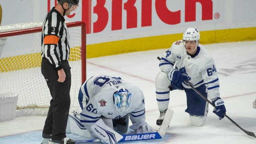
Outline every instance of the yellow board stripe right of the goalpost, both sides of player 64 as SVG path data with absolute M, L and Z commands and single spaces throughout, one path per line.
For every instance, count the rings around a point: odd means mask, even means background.
M 183 33 L 151 36 L 86 46 L 87 58 L 170 48 L 172 43 L 181 40 Z M 200 31 L 200 43 L 238 42 L 256 40 L 256 27 L 226 30 Z

